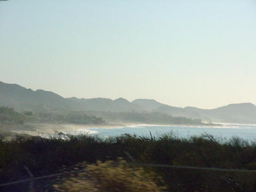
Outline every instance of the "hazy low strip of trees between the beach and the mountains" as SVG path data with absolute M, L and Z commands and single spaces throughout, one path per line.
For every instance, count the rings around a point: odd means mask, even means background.
M 194 124 L 203 125 L 201 119 L 173 117 L 162 113 L 104 112 L 104 111 L 23 111 L 18 113 L 10 107 L 0 107 L 0 123 L 40 122 L 71 124 L 145 123 L 145 124 Z

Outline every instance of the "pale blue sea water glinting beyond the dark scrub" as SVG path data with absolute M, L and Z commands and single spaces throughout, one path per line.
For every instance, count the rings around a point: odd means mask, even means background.
M 142 137 L 159 137 L 162 134 L 172 134 L 179 138 L 200 136 L 205 133 L 219 139 L 239 137 L 249 141 L 256 141 L 255 124 L 221 124 L 221 126 L 185 126 L 185 125 L 134 125 L 123 128 L 93 128 L 87 133 L 100 137 L 118 136 L 122 134 L 135 134 Z

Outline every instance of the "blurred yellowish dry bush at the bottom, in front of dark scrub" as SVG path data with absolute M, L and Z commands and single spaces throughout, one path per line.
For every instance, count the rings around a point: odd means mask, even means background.
M 119 162 L 125 162 L 120 159 Z M 96 164 L 77 164 L 76 169 L 85 169 L 85 172 L 77 175 L 70 174 L 59 179 L 58 184 L 53 185 L 55 191 L 63 192 L 140 192 L 140 191 L 164 191 L 165 187 L 154 182 L 155 177 L 146 173 L 140 167 L 130 167 L 124 164 L 114 164 L 113 161 Z M 158 178 L 161 180 L 161 178 Z

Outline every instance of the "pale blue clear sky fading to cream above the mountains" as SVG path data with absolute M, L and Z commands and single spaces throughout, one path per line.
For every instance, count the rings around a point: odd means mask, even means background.
M 62 97 L 256 104 L 256 1 L 2 1 L 0 81 Z

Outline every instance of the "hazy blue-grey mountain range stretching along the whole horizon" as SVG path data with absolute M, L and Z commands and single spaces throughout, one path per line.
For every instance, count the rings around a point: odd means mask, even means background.
M 0 106 L 14 107 L 17 110 L 93 110 L 116 112 L 157 112 L 172 116 L 201 118 L 203 121 L 221 123 L 256 123 L 256 106 L 252 103 L 238 103 L 215 109 L 196 107 L 172 107 L 153 99 L 136 99 L 132 102 L 119 98 L 78 99 L 63 98 L 44 90 L 33 91 L 17 84 L 0 82 Z

